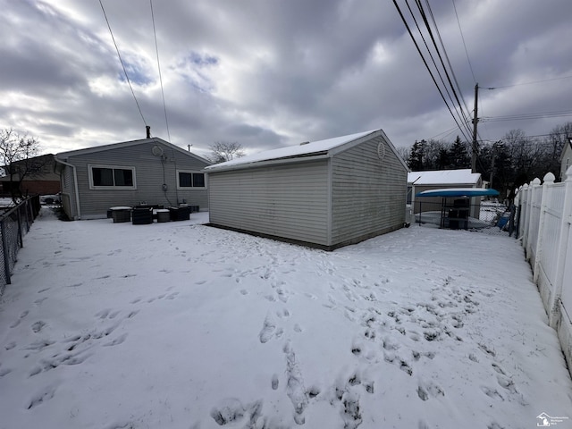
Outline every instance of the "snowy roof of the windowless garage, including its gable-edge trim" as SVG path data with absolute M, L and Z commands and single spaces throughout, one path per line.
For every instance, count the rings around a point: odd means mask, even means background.
M 206 171 L 211 172 L 214 170 L 227 170 L 231 168 L 241 168 L 246 167 L 249 164 L 259 164 L 263 162 L 271 162 L 278 160 L 288 160 L 288 159 L 298 159 L 308 156 L 319 156 L 319 155 L 332 155 L 330 152 L 332 149 L 341 147 L 343 145 L 356 142 L 359 139 L 367 137 L 375 137 L 374 134 L 381 134 L 385 138 L 386 142 L 390 145 L 391 149 L 397 154 L 395 147 L 391 144 L 390 140 L 383 133 L 383 130 L 369 130 L 364 132 L 357 132 L 355 134 L 349 134 L 347 136 L 335 137 L 333 139 L 317 140 L 312 142 L 300 143 L 297 146 L 280 147 L 278 149 L 266 150 L 264 152 L 259 152 L 257 154 L 241 156 L 240 158 L 232 159 L 225 163 L 209 165 L 205 168 Z M 401 160 L 401 158 L 400 158 Z M 402 160 L 401 160 L 402 161 Z M 402 161 L 403 163 L 403 161 Z M 404 164 L 404 163 L 403 163 Z M 407 165 L 404 164 L 407 169 Z

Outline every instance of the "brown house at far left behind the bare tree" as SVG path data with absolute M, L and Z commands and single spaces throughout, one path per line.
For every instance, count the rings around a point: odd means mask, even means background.
M 2 193 L 12 195 L 12 190 L 16 190 L 16 193 L 20 190 L 24 196 L 57 194 L 60 191 L 60 176 L 54 172 L 54 164 L 54 155 L 48 154 L 15 161 L 12 165 L 5 165 L 2 167 L 5 175 L 0 177 Z M 22 172 L 24 178 L 20 182 Z

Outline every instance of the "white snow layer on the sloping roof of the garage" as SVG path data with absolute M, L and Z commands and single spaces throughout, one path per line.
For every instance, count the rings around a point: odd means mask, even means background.
M 333 139 L 318 140 L 308 143 L 302 143 L 297 146 L 280 147 L 278 149 L 266 150 L 257 154 L 242 156 L 240 158 L 232 159 L 221 164 L 209 165 L 205 170 L 214 170 L 217 168 L 232 167 L 240 164 L 253 164 L 261 161 L 270 161 L 273 159 L 291 158 L 296 156 L 307 156 L 321 152 L 327 152 L 334 147 L 339 147 L 350 141 L 360 139 L 367 134 L 371 134 L 377 130 L 369 130 L 358 132 L 356 134 L 349 134 L 347 136 L 335 137 Z

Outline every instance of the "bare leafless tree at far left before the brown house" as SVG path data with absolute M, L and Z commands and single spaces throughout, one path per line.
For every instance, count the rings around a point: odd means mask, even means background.
M 38 159 L 39 141 L 12 128 L 0 130 L 0 163 L 4 176 L 9 176 L 10 194 L 14 202 L 22 197 L 21 182 L 41 172 L 46 159 Z

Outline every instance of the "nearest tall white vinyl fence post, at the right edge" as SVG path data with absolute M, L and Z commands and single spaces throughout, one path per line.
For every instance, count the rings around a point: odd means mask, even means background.
M 558 243 L 558 257 L 556 260 L 556 281 L 554 282 L 554 293 L 550 306 L 551 312 L 548 315 L 548 323 L 552 328 L 556 328 L 559 320 L 559 299 L 562 296 L 564 288 L 564 272 L 566 264 L 572 264 L 570 260 L 572 255 L 567 255 L 568 240 L 570 238 L 570 228 L 572 225 L 572 166 L 564 173 L 566 180 L 564 181 L 564 206 L 562 210 L 562 218 L 560 220 L 560 238 Z M 567 287 L 571 287 L 568 282 Z

